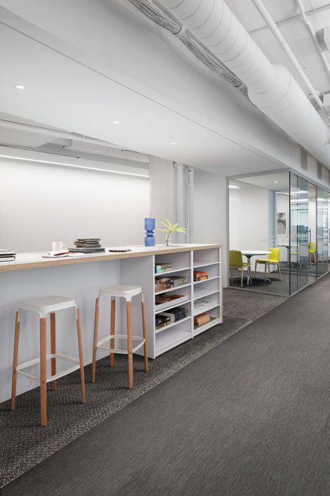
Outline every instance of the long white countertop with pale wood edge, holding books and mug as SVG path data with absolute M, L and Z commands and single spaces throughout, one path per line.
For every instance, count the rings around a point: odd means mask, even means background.
M 82 255 L 80 257 L 63 257 L 58 259 L 43 258 L 46 252 L 18 253 L 15 262 L 0 262 L 1 272 L 12 272 L 14 270 L 41 269 L 43 267 L 58 267 L 59 265 L 86 264 L 91 262 L 105 262 L 109 260 L 119 260 L 121 258 L 146 257 L 149 255 L 161 255 L 164 253 L 178 253 L 180 251 L 206 250 L 207 248 L 220 248 L 222 245 L 207 244 L 176 244 L 171 246 L 157 245 L 146 248 L 140 246 L 121 246 L 120 248 L 130 248 L 127 253 L 110 253 L 116 247 L 105 248 L 105 253 L 95 253 L 93 255 Z

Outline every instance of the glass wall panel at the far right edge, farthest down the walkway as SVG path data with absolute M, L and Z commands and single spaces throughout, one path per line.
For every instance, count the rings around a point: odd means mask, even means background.
M 328 193 L 317 186 L 317 277 L 328 272 Z

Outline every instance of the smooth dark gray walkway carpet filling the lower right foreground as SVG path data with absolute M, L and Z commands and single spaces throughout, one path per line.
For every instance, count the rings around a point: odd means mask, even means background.
M 329 496 L 329 293 L 327 276 L 1 496 Z

